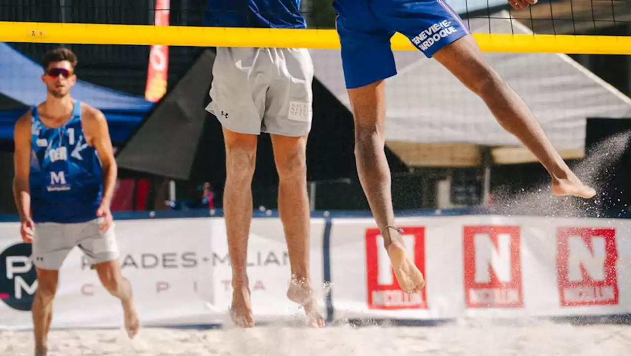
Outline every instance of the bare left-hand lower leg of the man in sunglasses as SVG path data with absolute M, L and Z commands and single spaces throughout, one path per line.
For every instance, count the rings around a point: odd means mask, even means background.
M 48 333 L 52 321 L 52 301 L 57 292 L 59 271 L 35 268 L 37 271 L 37 292 L 33 299 L 33 333 L 35 334 L 35 356 L 45 356 L 48 352 Z

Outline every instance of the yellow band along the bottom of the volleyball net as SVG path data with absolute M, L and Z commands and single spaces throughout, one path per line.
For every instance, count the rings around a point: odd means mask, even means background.
M 473 33 L 484 52 L 631 54 L 631 37 Z M 0 21 L 1 42 L 339 49 L 335 30 Z M 397 33 L 393 50 L 416 50 Z

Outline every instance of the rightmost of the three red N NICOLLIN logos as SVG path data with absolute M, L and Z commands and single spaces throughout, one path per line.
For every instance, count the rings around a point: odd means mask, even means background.
M 561 306 L 618 304 L 615 229 L 559 227 L 557 239 Z

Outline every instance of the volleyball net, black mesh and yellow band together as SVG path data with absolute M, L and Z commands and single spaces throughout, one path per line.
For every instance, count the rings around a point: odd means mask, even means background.
M 293 2 L 293 0 L 291 0 Z M 0 4 L 0 39 L 4 42 L 90 43 L 120 45 L 304 47 L 338 49 L 334 32 L 335 13 L 330 1 L 302 1 L 309 30 L 207 28 L 201 27 L 206 1 L 177 0 L 167 8 L 143 1 L 61 0 L 59 3 L 24 3 L 10 0 Z M 628 0 L 542 1 L 515 11 L 504 0 L 451 0 L 448 3 L 465 22 L 486 20 L 488 28 L 474 28 L 485 52 L 551 52 L 566 54 L 629 54 L 626 37 L 630 21 Z M 164 3 L 162 3 L 164 4 Z M 231 6 L 226 12 L 233 11 Z M 515 25 L 531 30 L 524 33 L 497 33 L 493 20 L 498 11 L 509 9 L 507 17 Z M 169 11 L 170 26 L 154 27 L 153 14 Z M 596 35 L 601 29 L 606 35 Z M 533 36 L 534 35 L 534 36 Z M 395 50 L 416 50 L 407 38 L 392 39 Z

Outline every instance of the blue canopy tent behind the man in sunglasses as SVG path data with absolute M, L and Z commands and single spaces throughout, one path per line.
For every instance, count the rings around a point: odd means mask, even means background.
M 42 66 L 8 44 L 0 42 L 0 95 L 23 105 L 0 111 L 0 141 L 13 140 L 16 120 L 28 106 L 38 105 L 45 100 L 46 89 L 40 79 L 43 73 Z M 80 80 L 74 84 L 71 95 L 105 114 L 114 142 L 125 141 L 153 106 L 153 103 L 139 96 Z

